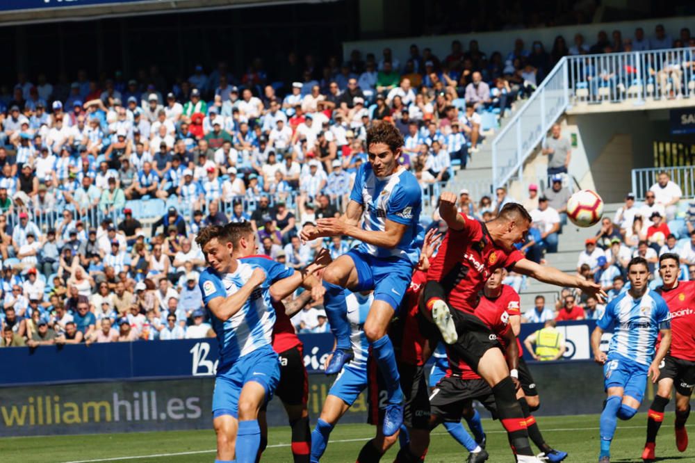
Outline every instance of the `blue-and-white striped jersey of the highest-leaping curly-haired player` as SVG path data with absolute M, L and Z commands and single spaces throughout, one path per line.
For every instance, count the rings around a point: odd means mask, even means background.
M 384 232 L 386 219 L 408 225 L 402 240 L 393 249 L 361 243 L 359 250 L 374 257 L 400 257 L 416 264 L 420 247 L 416 244 L 422 209 L 422 189 L 414 174 L 400 170 L 382 179 L 377 178 L 372 165 L 360 166 L 354 178 L 350 200 L 364 207 L 362 228 L 372 232 Z

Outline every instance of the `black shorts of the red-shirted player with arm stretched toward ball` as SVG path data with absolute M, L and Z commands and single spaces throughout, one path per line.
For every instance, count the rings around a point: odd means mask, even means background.
M 459 339 L 449 348 L 477 373 L 477 364 L 485 352 L 491 348 L 501 350 L 502 345 L 497 334 L 477 316 L 460 310 L 452 310 L 451 314 Z

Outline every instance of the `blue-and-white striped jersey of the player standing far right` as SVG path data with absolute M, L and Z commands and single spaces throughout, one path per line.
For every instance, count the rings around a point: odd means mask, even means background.
M 634 299 L 626 292 L 608 303 L 596 325 L 614 326 L 608 355 L 617 353 L 639 364 L 651 364 L 659 330 L 671 327 L 671 313 L 662 297 L 651 289 Z

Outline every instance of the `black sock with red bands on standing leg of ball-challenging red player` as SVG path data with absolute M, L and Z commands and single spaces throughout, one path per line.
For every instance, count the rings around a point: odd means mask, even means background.
M 521 405 L 516 400 L 516 388 L 511 376 L 505 377 L 492 388 L 497 405 L 500 423 L 507 430 L 509 445 L 516 455 L 533 456 L 531 444 L 528 441 L 526 420 L 521 411 Z

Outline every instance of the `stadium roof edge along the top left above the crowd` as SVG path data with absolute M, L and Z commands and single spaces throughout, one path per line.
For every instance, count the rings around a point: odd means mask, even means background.
M 45 1 L 45 0 L 44 0 Z M 292 3 L 329 3 L 338 0 L 85 0 L 72 5 L 54 2 L 37 7 L 11 5 L 0 6 L 0 27 L 48 22 L 92 21 L 114 17 L 130 17 L 148 14 L 193 13 L 231 8 L 253 8 L 257 6 L 289 5 Z M 91 2 L 91 3 L 86 3 Z

